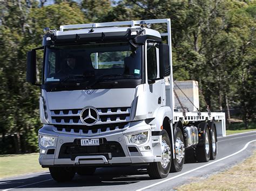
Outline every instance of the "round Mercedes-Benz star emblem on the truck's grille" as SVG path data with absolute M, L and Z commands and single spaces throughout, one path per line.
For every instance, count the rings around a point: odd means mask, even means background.
M 85 125 L 93 125 L 99 119 L 99 113 L 97 109 L 93 107 L 86 107 L 81 111 L 80 119 Z

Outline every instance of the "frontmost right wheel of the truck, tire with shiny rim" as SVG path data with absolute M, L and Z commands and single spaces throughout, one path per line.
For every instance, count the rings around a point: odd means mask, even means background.
M 163 179 L 168 176 L 171 168 L 171 142 L 168 133 L 162 130 L 162 161 L 161 162 L 151 162 L 147 166 L 147 173 L 152 179 Z

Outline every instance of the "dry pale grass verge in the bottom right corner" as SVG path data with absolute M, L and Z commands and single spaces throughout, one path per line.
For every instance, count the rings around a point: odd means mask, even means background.
M 256 152 L 234 167 L 224 172 L 211 175 L 207 179 L 198 178 L 177 188 L 177 190 L 255 190 L 256 187 Z

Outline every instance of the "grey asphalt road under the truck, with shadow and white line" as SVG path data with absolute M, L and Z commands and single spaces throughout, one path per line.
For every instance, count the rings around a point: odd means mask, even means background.
M 254 140 L 254 141 L 253 141 Z M 250 143 L 249 143 L 250 142 Z M 256 150 L 256 131 L 218 138 L 215 160 L 184 164 L 183 170 L 165 179 L 151 180 L 143 167 L 98 168 L 93 176 L 76 175 L 72 182 L 58 183 L 48 171 L 0 179 L 2 190 L 172 190 L 202 176 L 223 171 Z

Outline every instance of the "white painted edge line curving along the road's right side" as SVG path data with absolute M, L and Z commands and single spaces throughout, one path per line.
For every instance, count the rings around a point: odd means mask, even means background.
M 183 175 L 188 174 L 188 173 L 191 173 L 191 172 L 193 172 L 193 171 L 197 171 L 197 170 L 200 169 L 200 168 L 204 168 L 204 167 L 206 167 L 206 166 L 212 165 L 212 164 L 214 164 L 214 163 L 216 163 L 216 162 L 219 162 L 219 161 L 221 161 L 221 160 L 230 158 L 230 157 L 232 157 L 233 155 L 238 154 L 238 153 L 244 151 L 250 143 L 255 142 L 255 141 L 256 141 L 256 139 L 255 139 L 255 140 L 251 140 L 250 142 L 246 143 L 246 145 L 244 146 L 244 148 L 242 148 L 242 149 L 239 150 L 238 152 L 235 152 L 235 153 L 233 153 L 233 154 L 230 154 L 230 155 L 228 155 L 228 156 L 226 156 L 226 157 L 224 157 L 224 158 L 221 158 L 221 159 L 215 160 L 215 161 L 213 161 L 213 162 L 210 162 L 210 163 L 208 163 L 208 164 L 206 164 L 206 165 L 203 165 L 203 166 L 194 168 L 194 169 L 192 169 L 192 170 L 190 170 L 190 171 L 184 172 L 184 173 L 179 174 L 179 175 L 177 175 L 177 176 L 173 176 L 172 178 L 165 179 L 165 180 L 160 181 L 160 182 L 157 182 L 157 183 L 153 183 L 152 185 L 146 186 L 146 187 L 144 187 L 144 188 L 140 188 L 140 189 L 138 189 L 137 191 L 144 190 L 144 189 L 147 189 L 147 188 L 151 188 L 151 187 L 153 187 L 153 186 L 159 185 L 160 183 L 164 183 L 164 182 L 167 182 L 167 181 L 169 181 L 169 180 L 176 179 L 176 178 L 178 178 L 179 176 L 183 176 Z

